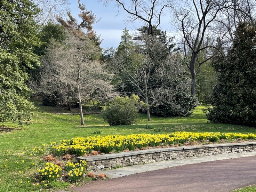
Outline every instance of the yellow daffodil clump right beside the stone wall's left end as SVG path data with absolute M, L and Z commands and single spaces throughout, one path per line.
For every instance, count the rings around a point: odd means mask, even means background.
M 64 170 L 68 173 L 67 175 L 70 183 L 77 182 L 84 176 L 86 161 L 81 160 L 80 163 L 67 162 L 64 166 Z

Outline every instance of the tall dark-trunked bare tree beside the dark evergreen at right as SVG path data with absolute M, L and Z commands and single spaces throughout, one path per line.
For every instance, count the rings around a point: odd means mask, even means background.
M 199 68 L 213 57 L 220 45 L 228 45 L 239 22 L 252 22 L 255 16 L 255 1 L 183 0 L 177 3 L 179 5 L 173 7 L 171 12 L 174 13 L 173 22 L 177 30 L 182 31 L 184 55 L 188 59 L 192 79 L 191 95 L 194 95 Z M 211 44 L 207 43 L 209 36 L 214 40 Z M 199 52 L 207 52 L 208 55 L 199 58 Z M 197 66 L 195 62 L 198 63 Z

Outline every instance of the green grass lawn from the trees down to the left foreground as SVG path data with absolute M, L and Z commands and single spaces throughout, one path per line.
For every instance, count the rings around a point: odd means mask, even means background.
M 99 114 L 85 115 L 85 126 L 80 126 L 79 115 L 57 115 L 56 112 L 65 112 L 63 108 L 45 107 L 36 102 L 35 115 L 32 124 L 12 132 L 0 133 L 0 192 L 9 191 L 38 191 L 40 188 L 33 186 L 33 174 L 36 167 L 31 172 L 31 164 L 40 165 L 39 158 L 31 157 L 22 164 L 22 156 L 19 154 L 25 150 L 30 150 L 41 143 L 49 145 L 52 141 L 70 139 L 73 137 L 93 136 L 94 131 L 101 131 L 100 135 L 112 134 L 137 134 L 137 133 L 171 133 L 175 131 L 186 132 L 237 132 L 256 133 L 256 128 L 232 124 L 210 124 L 207 122 L 202 112 L 204 106 L 197 107 L 189 117 L 151 117 L 151 122 L 147 121 L 146 114 L 140 114 L 138 121 L 130 126 L 109 126 L 103 121 Z M 74 109 L 77 110 L 77 109 Z M 146 125 L 156 127 L 146 129 Z M 0 126 L 17 127 L 12 122 L 0 123 Z M 159 128 L 159 129 L 158 129 Z M 10 156 L 7 156 L 9 154 Z M 23 157 L 24 158 L 24 157 Z M 18 164 L 17 164 L 18 162 Z M 7 165 L 6 167 L 4 167 Z M 19 173 L 22 172 L 22 174 Z M 29 183 L 28 183 L 29 181 Z M 17 182 L 22 182 L 17 184 Z M 57 185 L 57 184 L 56 184 Z M 61 187 L 60 187 L 61 188 Z

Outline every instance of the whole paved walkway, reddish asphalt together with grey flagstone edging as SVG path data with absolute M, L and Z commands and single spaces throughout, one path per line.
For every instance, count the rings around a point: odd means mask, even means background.
M 112 179 L 92 182 L 70 190 L 229 192 L 256 183 L 255 163 L 256 152 L 154 162 L 103 171 Z

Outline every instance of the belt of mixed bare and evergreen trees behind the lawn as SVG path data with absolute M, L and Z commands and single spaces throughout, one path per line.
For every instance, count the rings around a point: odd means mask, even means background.
M 81 125 L 88 101 L 96 109 L 136 95 L 148 121 L 189 116 L 203 101 L 213 106 L 205 109 L 211 122 L 255 126 L 255 1 L 113 1 L 127 22 L 143 25 L 133 38 L 125 28 L 108 50 L 80 0 L 77 18 L 66 0 L 2 2 L 0 122 L 29 124 L 33 93 L 44 105 L 78 107 Z M 176 38 L 160 29 L 167 13 Z

